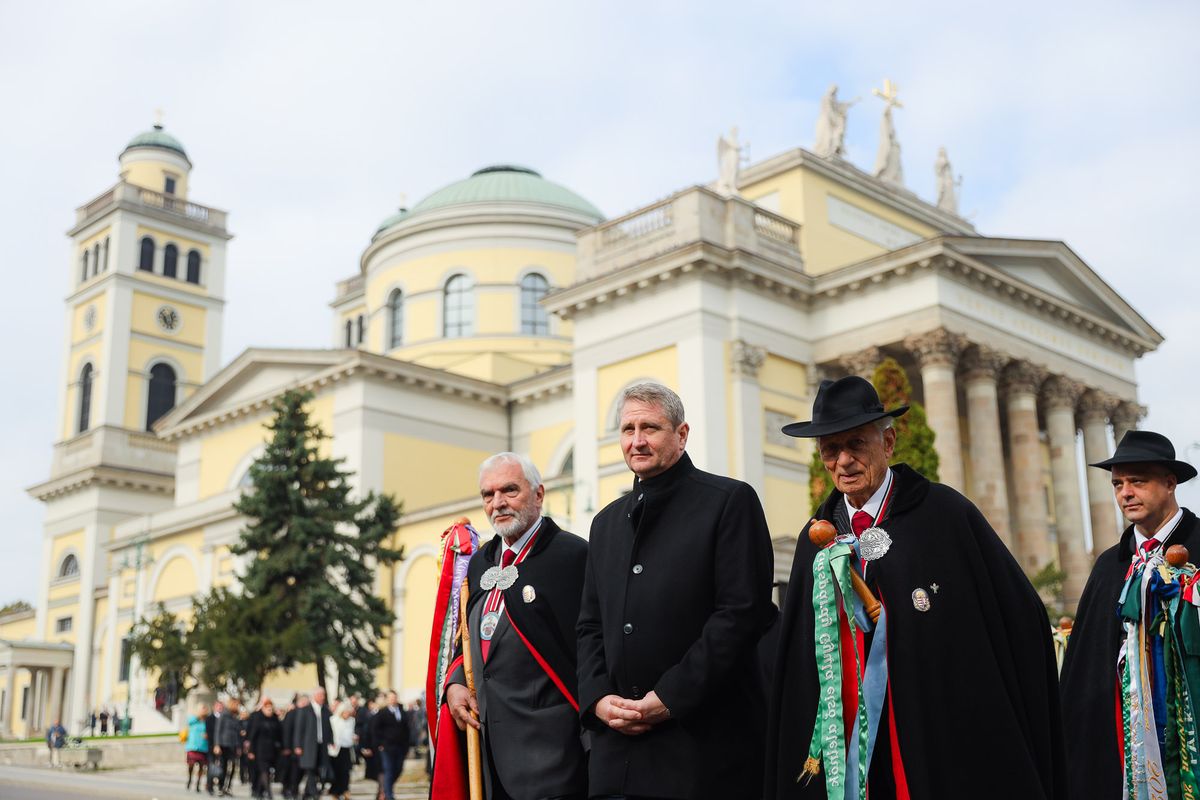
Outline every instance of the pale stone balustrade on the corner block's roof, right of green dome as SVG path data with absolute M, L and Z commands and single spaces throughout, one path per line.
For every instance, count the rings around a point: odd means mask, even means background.
M 701 242 L 804 269 L 799 224 L 696 186 L 581 231 L 576 282 Z

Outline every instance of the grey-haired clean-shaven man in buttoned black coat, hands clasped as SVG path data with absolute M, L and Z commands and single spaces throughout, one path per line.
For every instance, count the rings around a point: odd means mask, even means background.
M 673 391 L 637 384 L 620 408 L 636 477 L 592 523 L 578 620 L 588 790 L 757 798 L 757 644 L 773 613 L 762 505 L 749 485 L 691 463 Z

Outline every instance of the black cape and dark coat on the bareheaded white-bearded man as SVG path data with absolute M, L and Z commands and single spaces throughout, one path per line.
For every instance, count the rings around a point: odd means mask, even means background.
M 517 582 L 504 591 L 506 614 L 492 637 L 486 662 L 479 626 L 488 593 L 479 582 L 488 567 L 499 563 L 503 540 L 494 536 L 484 545 L 467 571 L 475 694 L 484 724 L 484 759 L 491 768 L 484 770 L 488 796 L 494 794 L 493 769 L 505 790 L 518 800 L 574 796 L 587 790 L 587 756 L 580 739 L 578 712 L 534 658 L 521 634 L 577 702 L 575 622 L 580 616 L 588 543 L 559 529 L 548 517 L 542 518 L 536 536 L 529 554 L 517 565 Z M 532 593 L 528 602 L 527 587 Z M 466 684 L 461 667 L 449 682 Z

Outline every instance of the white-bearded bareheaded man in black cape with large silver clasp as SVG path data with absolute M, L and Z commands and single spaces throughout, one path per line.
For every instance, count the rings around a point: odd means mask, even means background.
M 478 697 L 460 667 L 446 704 L 482 730 L 488 800 L 581 800 L 587 759 L 575 675 L 575 621 L 588 546 L 541 516 L 538 468 L 511 452 L 479 468 L 496 536 L 470 560 L 467 620 Z

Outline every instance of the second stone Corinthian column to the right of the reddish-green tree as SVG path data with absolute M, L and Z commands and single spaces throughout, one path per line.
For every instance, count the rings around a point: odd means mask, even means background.
M 985 347 L 962 355 L 962 381 L 967 396 L 971 456 L 971 499 L 1013 551 L 1008 518 L 1008 481 L 1004 479 L 1004 441 L 1000 434 L 1000 396 L 996 380 L 1008 356 Z M 1015 552 L 1015 551 L 1014 551 Z

